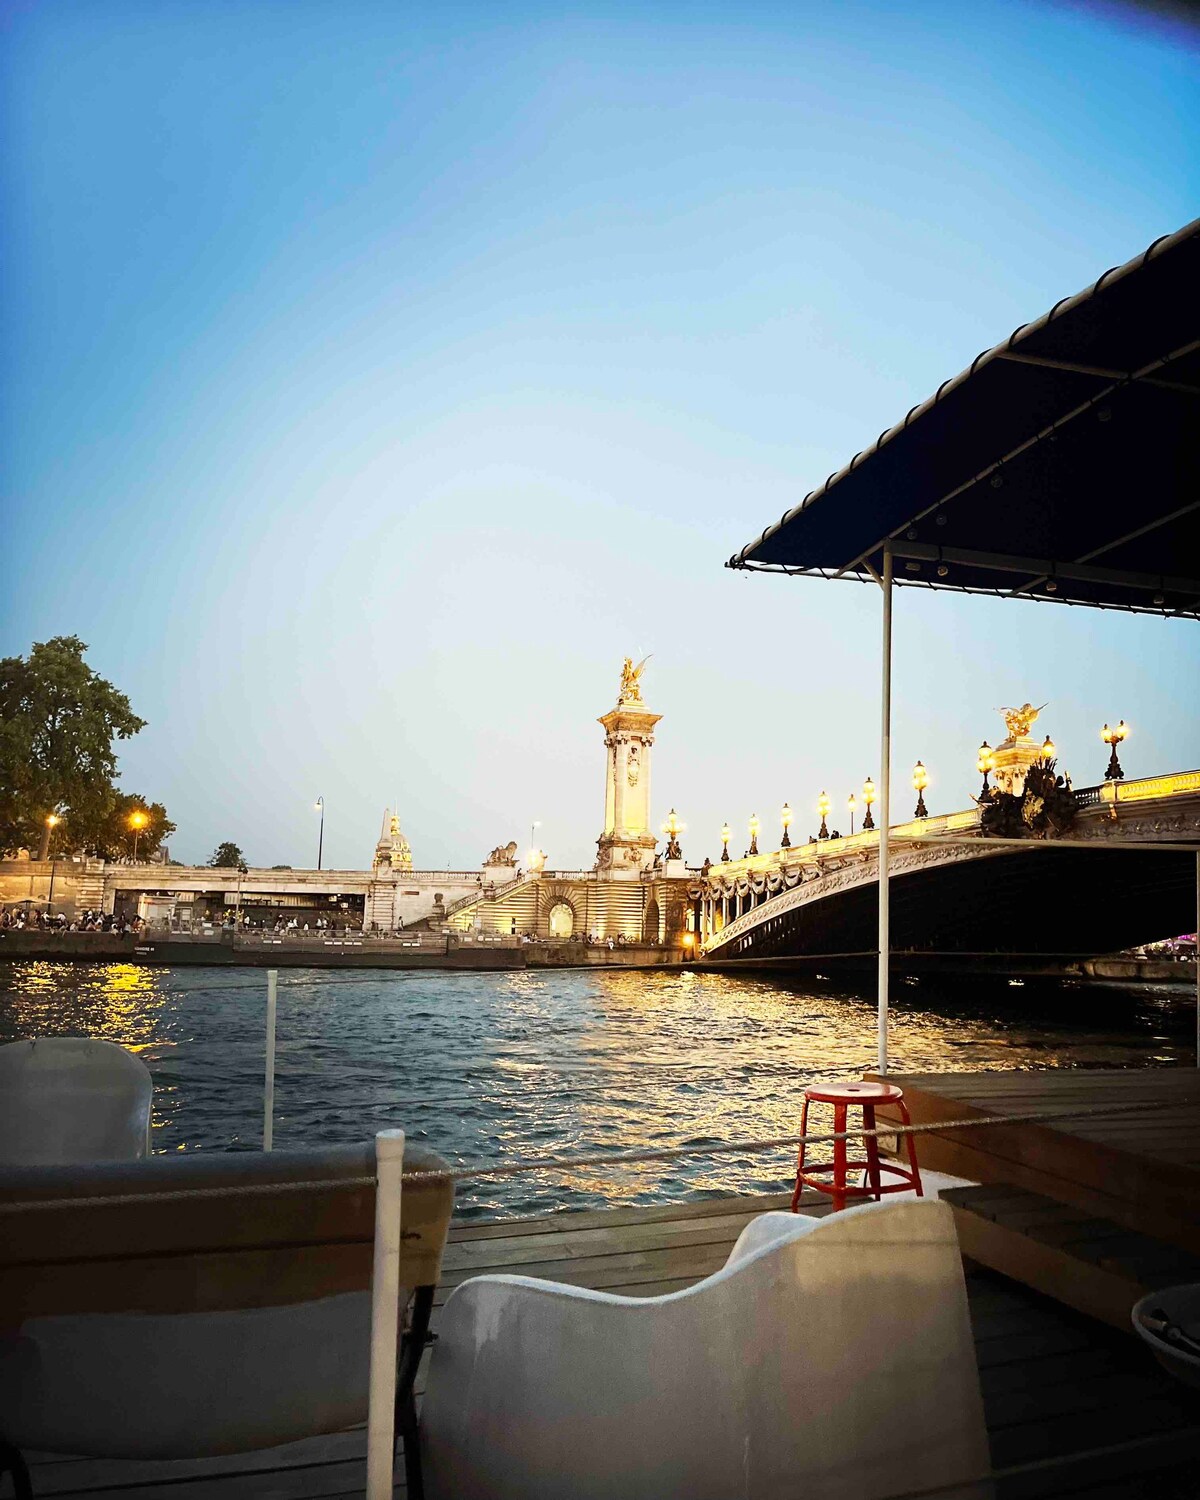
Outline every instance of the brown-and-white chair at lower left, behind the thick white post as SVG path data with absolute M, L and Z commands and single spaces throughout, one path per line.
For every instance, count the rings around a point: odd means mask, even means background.
M 444 1173 L 410 1148 L 405 1173 Z M 0 1168 L 0 1473 L 21 1449 L 202 1458 L 339 1432 L 368 1416 L 374 1146 L 171 1152 Z M 112 1202 L 126 1198 L 128 1202 Z M 453 1182 L 405 1186 L 396 1419 L 420 1494 L 412 1383 Z M 2 1484 L 2 1480 L 0 1480 Z M 24 1488 L 22 1488 L 24 1485 Z

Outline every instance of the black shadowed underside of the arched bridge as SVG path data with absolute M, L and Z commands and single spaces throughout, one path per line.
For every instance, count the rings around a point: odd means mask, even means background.
M 855 964 L 878 951 L 874 884 L 771 915 L 716 960 Z M 975 966 L 998 958 L 1090 958 L 1191 932 L 1196 855 L 1030 849 L 897 874 L 891 882 L 891 948 L 906 966 Z M 956 963 L 956 956 L 960 962 Z M 1005 963 L 998 962 L 1004 969 Z

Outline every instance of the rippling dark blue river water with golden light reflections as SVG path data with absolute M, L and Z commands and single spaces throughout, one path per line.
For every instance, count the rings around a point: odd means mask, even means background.
M 897 984 L 892 1068 L 1180 1066 L 1186 988 Z M 102 1036 L 154 1078 L 154 1150 L 260 1144 L 261 969 L 0 964 L 0 1041 Z M 874 999 L 813 978 L 704 972 L 285 969 L 274 1144 L 404 1126 L 454 1164 L 795 1134 L 806 1083 L 874 1060 Z M 790 1186 L 788 1152 L 538 1173 L 458 1212 L 662 1203 Z

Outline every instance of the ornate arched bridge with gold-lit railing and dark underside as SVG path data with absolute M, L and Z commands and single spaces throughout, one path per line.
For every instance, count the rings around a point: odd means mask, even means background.
M 1004 969 L 1191 932 L 1200 771 L 1108 782 L 1076 798 L 1060 838 L 988 837 L 978 807 L 892 825 L 894 966 L 978 972 L 981 956 Z M 874 964 L 879 832 L 711 866 L 690 897 L 708 960 Z

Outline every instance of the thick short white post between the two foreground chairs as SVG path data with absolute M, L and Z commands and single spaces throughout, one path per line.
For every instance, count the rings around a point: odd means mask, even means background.
M 392 1500 L 394 1484 L 402 1173 L 404 1131 L 381 1130 L 375 1137 L 375 1269 L 370 1276 L 366 1500 Z

